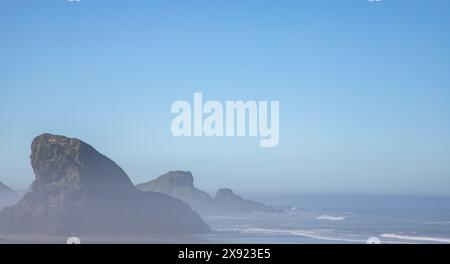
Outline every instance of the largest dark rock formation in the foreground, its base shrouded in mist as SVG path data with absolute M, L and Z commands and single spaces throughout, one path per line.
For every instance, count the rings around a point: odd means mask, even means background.
M 36 137 L 31 165 L 36 176 L 31 191 L 0 211 L 0 232 L 145 235 L 209 230 L 186 203 L 136 189 L 116 163 L 78 139 Z

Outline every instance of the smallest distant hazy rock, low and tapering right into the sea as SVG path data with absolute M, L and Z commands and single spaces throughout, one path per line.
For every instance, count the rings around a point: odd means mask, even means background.
M 222 210 L 229 212 L 277 212 L 272 206 L 267 206 L 259 202 L 243 199 L 242 197 L 233 193 L 231 189 L 219 189 L 214 198 L 217 206 Z

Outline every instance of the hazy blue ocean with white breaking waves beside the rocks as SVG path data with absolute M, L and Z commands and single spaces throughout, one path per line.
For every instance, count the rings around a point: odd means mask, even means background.
M 204 216 L 224 243 L 450 243 L 448 196 L 248 194 L 285 213 Z

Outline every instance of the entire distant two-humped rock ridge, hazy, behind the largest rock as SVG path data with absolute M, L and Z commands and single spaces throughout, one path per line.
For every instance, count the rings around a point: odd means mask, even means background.
M 245 200 L 230 189 L 220 189 L 213 199 L 209 194 L 194 186 L 194 177 L 189 171 L 170 171 L 158 178 L 136 185 L 143 191 L 161 192 L 176 197 L 200 213 L 217 212 L 278 212 L 271 206 Z

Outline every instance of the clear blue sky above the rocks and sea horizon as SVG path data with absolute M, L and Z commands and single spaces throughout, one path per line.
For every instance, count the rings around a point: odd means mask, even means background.
M 175 138 L 179 99 L 280 100 L 280 144 Z M 450 1 L 0 3 L 0 181 L 80 138 L 135 183 L 450 194 Z

